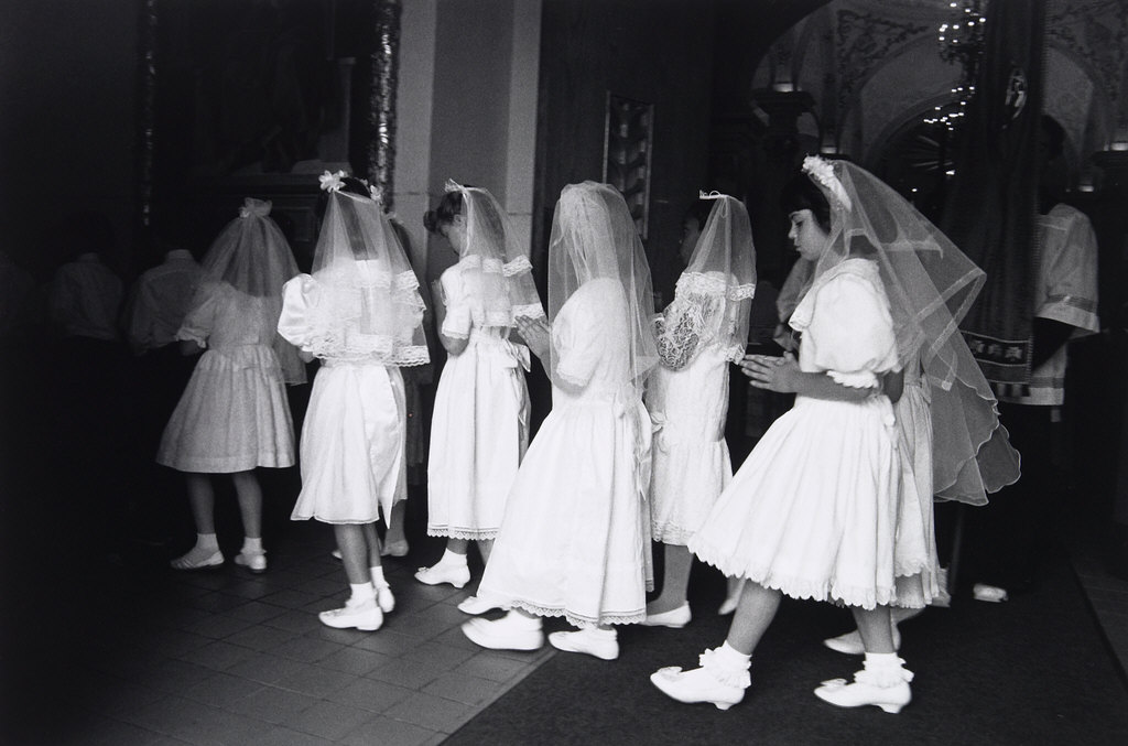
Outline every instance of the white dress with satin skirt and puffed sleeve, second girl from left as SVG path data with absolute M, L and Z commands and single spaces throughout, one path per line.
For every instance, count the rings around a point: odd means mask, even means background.
M 299 349 L 309 342 L 318 286 L 300 274 L 283 288 L 279 333 Z M 324 359 L 301 430 L 301 493 L 291 519 L 370 524 L 381 510 L 389 516 L 407 497 L 405 419 L 399 368 L 362 356 Z

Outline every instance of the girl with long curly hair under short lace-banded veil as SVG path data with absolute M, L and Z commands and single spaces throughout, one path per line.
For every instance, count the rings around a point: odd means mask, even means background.
M 666 544 L 662 594 L 646 605 L 650 626 L 685 626 L 693 554 L 686 542 L 732 479 L 724 441 L 729 362 L 744 357 L 756 290 L 756 254 L 744 205 L 713 200 L 673 302 L 656 318 L 661 365 L 646 386 L 654 424 L 650 483 L 651 533 Z

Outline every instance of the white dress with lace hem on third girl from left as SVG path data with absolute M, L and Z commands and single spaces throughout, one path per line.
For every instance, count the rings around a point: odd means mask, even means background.
M 483 326 L 462 279 L 465 264 L 442 273 L 442 333 L 467 340 L 447 358 L 434 398 L 428 459 L 428 534 L 466 539 L 497 536 L 529 442 L 529 349 L 508 328 Z M 481 305 L 481 304 L 479 304 Z

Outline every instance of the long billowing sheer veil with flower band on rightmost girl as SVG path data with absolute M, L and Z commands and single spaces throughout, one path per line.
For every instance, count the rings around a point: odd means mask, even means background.
M 851 256 L 878 262 L 902 366 L 932 385 L 933 492 L 972 504 L 1019 477 L 1019 455 L 987 379 L 959 332 L 985 274 L 897 192 L 854 164 L 808 157 L 830 202 L 830 245 L 813 283 Z

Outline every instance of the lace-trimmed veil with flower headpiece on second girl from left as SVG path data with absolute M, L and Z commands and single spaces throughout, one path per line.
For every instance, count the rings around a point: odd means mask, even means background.
M 321 177 L 328 207 L 314 251 L 310 342 L 319 358 L 421 366 L 430 361 L 418 279 L 373 198 Z

